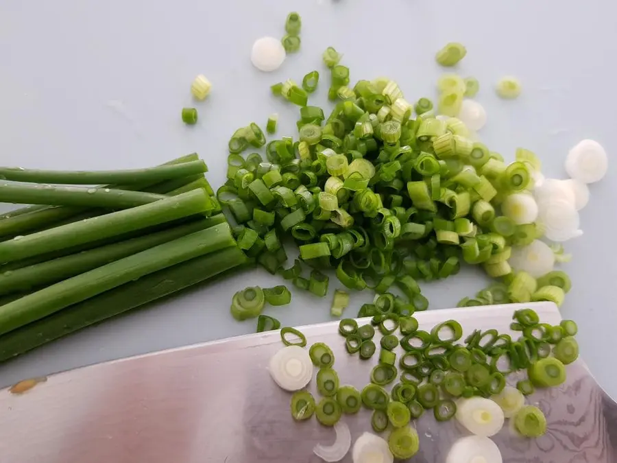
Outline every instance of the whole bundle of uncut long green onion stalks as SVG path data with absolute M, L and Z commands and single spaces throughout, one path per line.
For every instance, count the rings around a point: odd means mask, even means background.
M 0 167 L 0 361 L 247 263 L 206 170 Z

